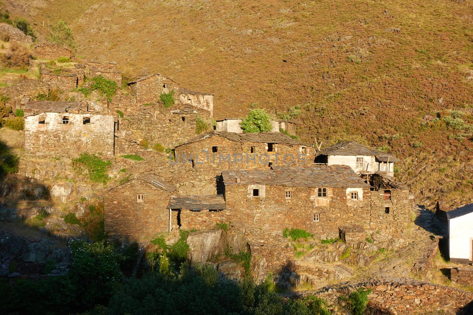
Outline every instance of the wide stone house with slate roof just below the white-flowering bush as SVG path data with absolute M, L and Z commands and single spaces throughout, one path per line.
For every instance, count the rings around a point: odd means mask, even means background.
M 314 148 L 280 132 L 217 132 L 199 135 L 175 147 L 176 162 L 219 174 L 229 169 L 269 169 L 312 164 Z

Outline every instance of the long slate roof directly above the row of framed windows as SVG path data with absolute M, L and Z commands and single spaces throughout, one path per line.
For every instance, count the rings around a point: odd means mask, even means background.
M 266 184 L 287 187 L 368 187 L 347 165 L 281 167 L 275 170 L 224 170 L 225 185 Z M 236 179 L 239 179 L 239 183 Z

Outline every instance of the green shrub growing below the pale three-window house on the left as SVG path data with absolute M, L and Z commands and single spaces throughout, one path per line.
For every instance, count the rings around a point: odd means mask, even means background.
M 108 175 L 107 168 L 112 165 L 110 161 L 104 161 L 95 154 L 81 153 L 76 159 L 72 159 L 72 168 L 79 173 L 85 173 L 93 182 L 106 183 Z

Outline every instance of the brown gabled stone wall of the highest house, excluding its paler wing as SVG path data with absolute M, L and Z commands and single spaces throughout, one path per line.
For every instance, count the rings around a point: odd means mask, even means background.
M 166 85 L 166 87 L 164 87 Z M 161 75 L 149 77 L 147 79 L 130 84 L 131 93 L 136 97 L 139 104 L 159 101 L 162 93 L 169 93 L 174 90 L 174 99 L 179 100 L 179 85 Z

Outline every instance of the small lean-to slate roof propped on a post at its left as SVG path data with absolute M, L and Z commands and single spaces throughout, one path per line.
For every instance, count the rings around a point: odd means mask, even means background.
M 168 209 L 223 210 L 227 204 L 223 195 L 173 195 L 169 199 Z

